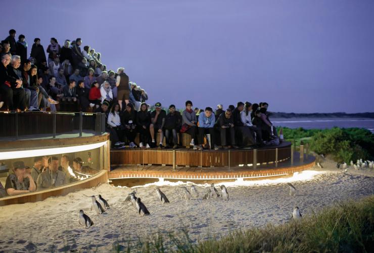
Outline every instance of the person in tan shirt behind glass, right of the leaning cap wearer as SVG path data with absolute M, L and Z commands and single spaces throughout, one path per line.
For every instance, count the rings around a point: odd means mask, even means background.
M 48 158 L 48 168 L 46 168 L 36 180 L 38 190 L 61 186 L 67 183 L 64 172 L 59 171 L 59 158 L 51 156 Z

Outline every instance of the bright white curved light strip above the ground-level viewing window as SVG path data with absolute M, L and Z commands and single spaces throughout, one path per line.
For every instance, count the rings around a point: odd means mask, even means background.
M 74 153 L 74 152 L 100 148 L 104 146 L 106 143 L 107 142 L 100 142 L 100 143 L 72 146 L 72 147 L 44 148 L 44 149 L 0 152 L 0 160 L 16 159 L 16 158 L 24 158 L 24 157 L 35 157 L 35 156 L 41 156 L 41 155 L 57 155 L 57 154 Z

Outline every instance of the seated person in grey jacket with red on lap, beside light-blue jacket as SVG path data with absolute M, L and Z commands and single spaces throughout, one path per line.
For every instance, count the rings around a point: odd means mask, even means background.
M 182 126 L 180 128 L 180 133 L 186 133 L 191 136 L 190 146 L 193 146 L 194 149 L 197 149 L 196 140 L 197 133 L 197 117 L 195 111 L 192 109 L 192 102 L 190 100 L 185 102 L 185 110 L 182 112 Z M 198 108 L 199 110 L 199 108 Z

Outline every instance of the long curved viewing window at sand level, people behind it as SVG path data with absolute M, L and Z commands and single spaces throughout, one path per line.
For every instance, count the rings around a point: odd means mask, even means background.
M 0 160 L 0 197 L 51 189 L 88 179 L 100 170 L 100 148 Z

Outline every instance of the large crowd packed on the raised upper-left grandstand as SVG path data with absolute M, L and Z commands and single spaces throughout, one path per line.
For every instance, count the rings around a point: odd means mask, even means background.
M 25 36 L 20 34 L 16 41 L 16 31 L 11 29 L 0 45 L 0 108 L 56 111 L 56 104 L 71 102 L 86 112 L 104 101 L 121 106 L 132 103 L 138 109 L 148 100 L 145 90 L 129 81 L 124 68 L 107 70 L 99 52 L 81 45 L 81 38 L 66 39 L 60 46 L 52 37 L 46 57 L 40 38 L 35 38 L 27 57 Z

